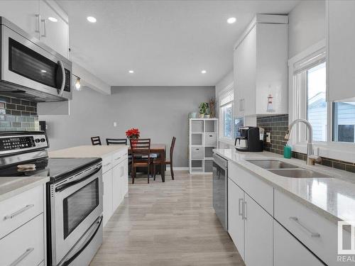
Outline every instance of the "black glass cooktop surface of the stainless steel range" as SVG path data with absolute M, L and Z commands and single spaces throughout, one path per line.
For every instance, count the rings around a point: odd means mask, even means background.
M 55 182 L 101 161 L 101 158 L 42 158 L 0 168 L 0 177 L 50 177 Z M 18 168 L 32 164 L 34 169 Z

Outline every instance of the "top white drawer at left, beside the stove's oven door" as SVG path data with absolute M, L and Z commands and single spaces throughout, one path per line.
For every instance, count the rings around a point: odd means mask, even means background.
M 0 203 L 0 238 L 43 213 L 43 204 L 43 185 L 2 201 Z

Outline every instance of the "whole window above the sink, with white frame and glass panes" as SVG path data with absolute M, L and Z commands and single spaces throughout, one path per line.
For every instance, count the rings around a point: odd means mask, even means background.
M 313 128 L 313 140 L 320 155 L 347 160 L 354 155 L 355 101 L 327 102 L 327 64 L 325 40 L 308 48 L 288 61 L 289 119 L 304 118 Z M 291 143 L 293 150 L 305 153 L 306 127 L 295 126 Z

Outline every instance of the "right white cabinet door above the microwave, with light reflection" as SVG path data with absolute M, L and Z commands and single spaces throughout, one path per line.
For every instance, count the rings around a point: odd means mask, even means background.
M 40 18 L 40 40 L 60 55 L 68 57 L 68 23 L 44 0 L 40 0 Z

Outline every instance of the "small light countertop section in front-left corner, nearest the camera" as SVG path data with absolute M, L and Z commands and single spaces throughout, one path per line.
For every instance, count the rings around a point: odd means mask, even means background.
M 1 177 L 0 201 L 49 182 L 49 177 Z

